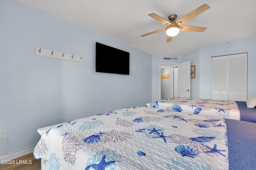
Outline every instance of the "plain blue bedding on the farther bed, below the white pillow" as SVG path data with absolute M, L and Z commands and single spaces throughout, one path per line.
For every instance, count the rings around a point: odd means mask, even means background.
M 240 120 L 256 123 L 256 107 L 247 108 L 246 102 L 237 102 L 240 110 Z

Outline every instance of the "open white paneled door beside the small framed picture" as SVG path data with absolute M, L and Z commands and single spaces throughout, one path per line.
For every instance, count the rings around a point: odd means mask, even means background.
M 190 98 L 191 61 L 178 64 L 178 97 Z

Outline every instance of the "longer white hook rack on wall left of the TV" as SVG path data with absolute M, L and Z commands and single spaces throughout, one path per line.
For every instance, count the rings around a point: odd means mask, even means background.
M 52 57 L 55 59 L 71 60 L 84 62 L 84 57 L 82 55 L 76 55 L 61 51 L 55 51 L 50 49 L 43 49 L 41 47 L 35 47 L 35 55 L 40 55 L 44 57 Z

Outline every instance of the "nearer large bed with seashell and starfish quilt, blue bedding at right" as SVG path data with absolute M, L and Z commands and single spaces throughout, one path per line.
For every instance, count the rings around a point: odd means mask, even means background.
M 251 124 L 244 135 L 255 141 Z M 243 123 L 232 125 L 236 120 L 129 107 L 53 126 L 33 153 L 44 162 L 42 170 L 235 170 L 246 169 L 246 162 L 255 167 L 255 142 L 236 135 Z

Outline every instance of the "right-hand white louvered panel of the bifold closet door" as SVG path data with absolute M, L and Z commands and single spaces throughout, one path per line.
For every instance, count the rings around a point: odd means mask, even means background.
M 247 100 L 247 53 L 228 56 L 228 100 Z

